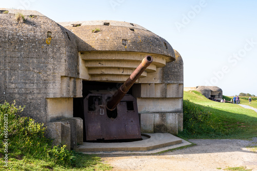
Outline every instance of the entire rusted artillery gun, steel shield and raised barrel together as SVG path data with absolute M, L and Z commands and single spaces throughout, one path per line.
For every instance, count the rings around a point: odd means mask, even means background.
M 141 139 L 136 99 L 126 94 L 153 58 L 146 56 L 112 96 L 106 91 L 84 99 L 86 140 Z

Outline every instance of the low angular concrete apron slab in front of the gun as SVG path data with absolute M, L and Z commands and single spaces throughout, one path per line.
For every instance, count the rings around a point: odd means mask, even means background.
M 151 154 L 191 143 L 169 133 L 145 134 L 148 139 L 134 142 L 95 143 L 83 142 L 77 151 L 85 154 Z

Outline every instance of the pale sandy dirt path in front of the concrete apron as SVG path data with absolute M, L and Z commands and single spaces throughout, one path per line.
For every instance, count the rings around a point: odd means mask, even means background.
M 257 170 L 257 152 L 248 145 L 256 145 L 257 137 L 246 140 L 189 140 L 197 145 L 161 155 L 101 155 L 113 170 L 223 170 L 246 166 Z

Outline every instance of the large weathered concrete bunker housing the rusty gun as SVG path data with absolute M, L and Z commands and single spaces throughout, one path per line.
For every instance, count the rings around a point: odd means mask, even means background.
M 58 24 L 37 11 L 1 10 L 9 13 L 0 14 L 0 100 L 26 105 L 23 115 L 46 123 L 56 143 L 83 143 L 89 131 L 83 99 L 113 94 L 146 55 L 152 64 L 127 92 L 136 100 L 140 131 L 182 131 L 183 61 L 165 39 L 133 23 Z M 24 23 L 15 20 L 17 12 Z

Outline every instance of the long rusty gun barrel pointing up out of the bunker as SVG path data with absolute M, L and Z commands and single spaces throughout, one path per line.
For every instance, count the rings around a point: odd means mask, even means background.
M 117 104 L 125 96 L 125 94 L 130 90 L 133 84 L 136 82 L 138 77 L 143 73 L 143 71 L 150 66 L 153 61 L 152 56 L 145 56 L 136 68 L 136 70 L 127 78 L 127 80 L 122 84 L 122 86 L 115 92 L 115 94 L 107 101 L 106 108 L 110 111 L 116 109 Z

